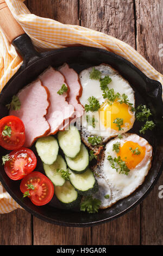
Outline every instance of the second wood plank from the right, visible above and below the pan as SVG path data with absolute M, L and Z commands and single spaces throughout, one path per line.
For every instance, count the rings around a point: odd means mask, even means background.
M 112 35 L 135 48 L 134 1 L 80 0 L 81 25 Z M 140 206 L 92 228 L 92 245 L 139 245 Z

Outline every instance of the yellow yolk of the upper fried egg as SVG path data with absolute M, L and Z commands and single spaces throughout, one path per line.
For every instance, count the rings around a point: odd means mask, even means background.
M 129 130 L 132 127 L 131 117 L 133 117 L 129 108 L 130 107 L 125 103 L 120 104 L 115 101 L 112 105 L 109 105 L 108 101 L 105 101 L 99 109 L 100 120 L 106 128 L 110 127 L 113 130 L 119 131 L 119 127 L 113 122 L 116 118 L 121 118 L 123 119 L 121 129 L 125 126 Z

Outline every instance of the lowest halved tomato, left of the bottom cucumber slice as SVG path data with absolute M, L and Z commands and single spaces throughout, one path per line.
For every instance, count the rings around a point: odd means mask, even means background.
M 54 195 L 54 185 L 52 181 L 40 172 L 28 174 L 21 181 L 20 190 L 24 196 L 28 196 L 35 205 L 47 204 Z

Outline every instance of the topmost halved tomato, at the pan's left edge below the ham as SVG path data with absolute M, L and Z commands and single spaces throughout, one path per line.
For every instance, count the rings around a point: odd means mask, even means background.
M 8 150 L 20 149 L 26 140 L 22 120 L 8 115 L 0 120 L 0 145 Z

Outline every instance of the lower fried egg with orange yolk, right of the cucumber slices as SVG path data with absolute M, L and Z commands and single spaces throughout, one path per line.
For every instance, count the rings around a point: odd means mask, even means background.
M 118 145 L 116 150 L 114 150 L 115 144 Z M 103 154 L 103 160 L 93 169 L 99 183 L 99 191 L 94 197 L 101 200 L 101 209 L 129 196 L 143 183 L 151 168 L 152 146 L 146 139 L 136 134 L 126 133 L 121 139 L 116 137 L 108 142 Z M 108 160 L 108 156 L 113 162 Z M 128 173 L 121 172 L 120 165 L 114 161 L 118 158 L 125 162 Z M 117 169 L 112 166 L 112 163 Z M 109 198 L 105 198 L 104 194 L 109 191 Z

